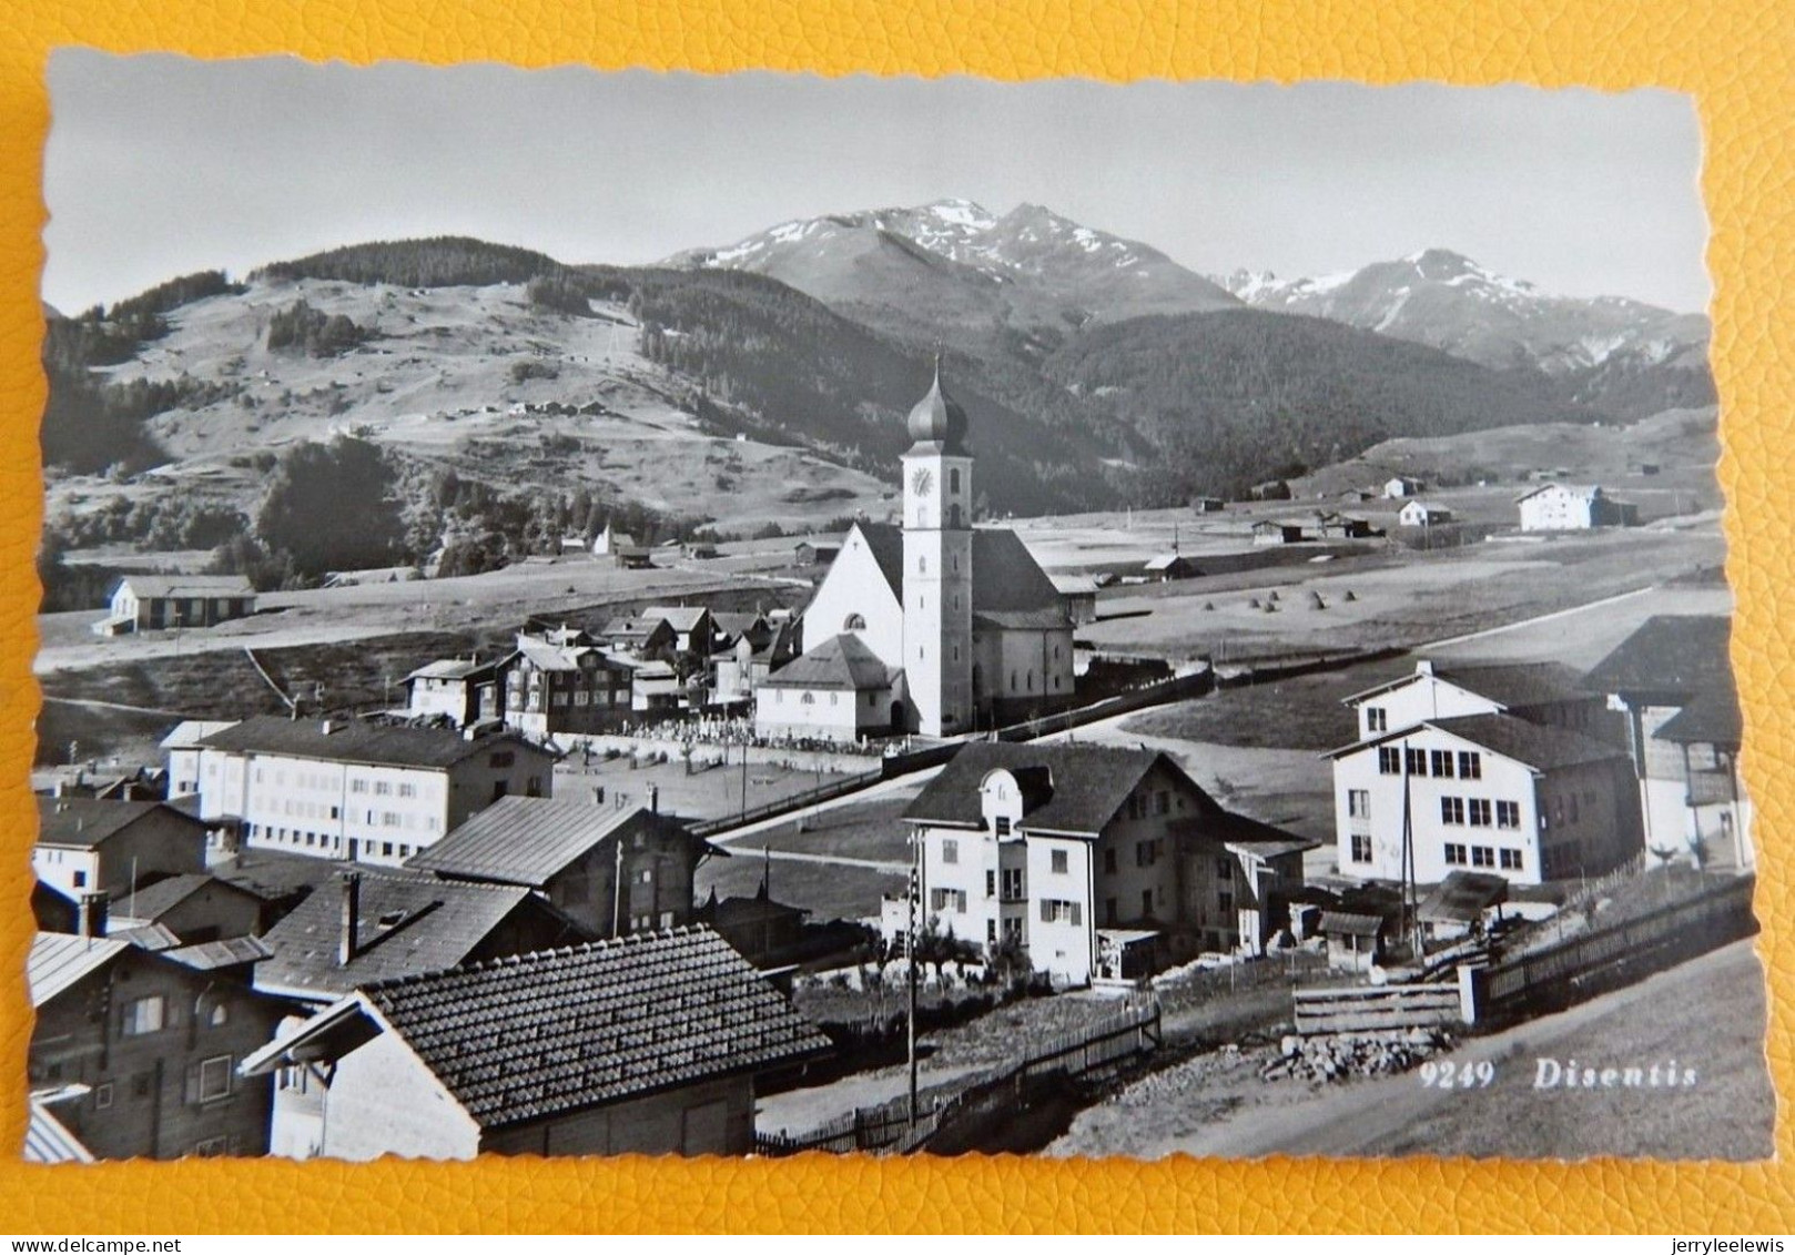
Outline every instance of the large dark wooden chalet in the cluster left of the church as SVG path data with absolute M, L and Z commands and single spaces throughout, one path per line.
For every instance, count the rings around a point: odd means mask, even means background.
M 635 668 L 583 632 L 517 634 L 497 663 L 504 725 L 530 740 L 614 731 L 634 702 Z

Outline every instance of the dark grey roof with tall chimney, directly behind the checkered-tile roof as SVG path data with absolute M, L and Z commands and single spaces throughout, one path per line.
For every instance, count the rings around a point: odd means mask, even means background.
M 302 998 L 341 996 L 373 980 L 452 968 L 526 901 L 551 910 L 519 885 L 364 869 L 357 950 L 348 964 L 337 962 L 343 887 L 330 880 L 267 930 L 264 941 L 275 953 L 257 968 L 255 984 Z

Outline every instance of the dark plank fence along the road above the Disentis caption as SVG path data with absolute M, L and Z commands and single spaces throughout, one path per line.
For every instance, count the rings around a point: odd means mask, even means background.
M 1756 876 L 1729 878 L 1707 892 L 1571 941 L 1468 970 L 1477 1020 L 1617 987 L 1757 930 Z

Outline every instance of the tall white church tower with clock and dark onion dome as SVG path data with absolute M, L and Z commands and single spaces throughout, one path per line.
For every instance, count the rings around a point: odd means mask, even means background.
M 935 381 L 903 456 L 903 670 L 915 731 L 973 727 L 973 456 L 966 411 Z

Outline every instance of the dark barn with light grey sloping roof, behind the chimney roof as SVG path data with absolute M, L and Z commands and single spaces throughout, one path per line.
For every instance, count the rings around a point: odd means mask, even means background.
M 691 923 L 707 853 L 686 824 L 641 806 L 503 797 L 406 865 L 533 889 L 594 937 L 617 937 Z

